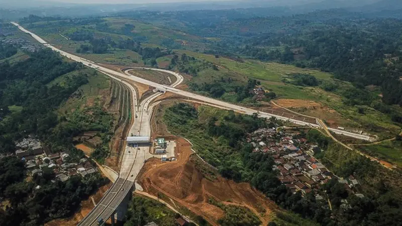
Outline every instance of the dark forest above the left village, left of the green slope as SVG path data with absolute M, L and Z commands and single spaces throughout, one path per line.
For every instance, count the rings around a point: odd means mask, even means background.
M 29 134 L 45 141 L 54 152 L 74 149 L 71 138 L 79 131 L 58 125 L 60 119 L 54 109 L 87 82 L 86 76 L 73 76 L 64 86 L 46 84 L 81 67 L 78 63 L 64 62 L 51 50 L 32 53 L 26 61 L 0 64 L 0 106 L 4 116 L 0 123 L 1 152 L 13 152 L 14 142 Z M 11 112 L 9 106 L 18 106 L 19 110 Z

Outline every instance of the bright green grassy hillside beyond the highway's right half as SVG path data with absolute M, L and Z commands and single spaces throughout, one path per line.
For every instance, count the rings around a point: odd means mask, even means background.
M 322 118 L 336 125 L 336 127 L 341 126 L 368 131 L 378 135 L 380 139 L 392 137 L 400 131 L 400 127 L 395 125 L 388 115 L 382 114 L 369 106 L 364 106 L 364 114 L 359 114 L 358 108 L 362 106 L 345 104 L 339 92 L 328 92 L 321 89 L 320 86 L 296 86 L 282 82 L 282 79 L 287 78 L 289 74 L 305 73 L 313 75 L 320 80 L 329 80 L 335 83 L 341 91 L 353 87 L 348 82 L 332 78 L 333 76 L 330 73 L 279 63 L 263 63 L 255 60 L 236 61 L 224 57 L 216 58 L 214 55 L 185 50 L 176 50 L 176 52 L 210 61 L 219 66 L 219 71 L 207 69 L 198 72 L 197 76 L 191 80 L 197 84 L 210 83 L 214 80 L 220 80 L 221 77 L 231 77 L 234 82 L 243 84 L 247 82 L 248 78 L 259 79 L 264 89 L 275 92 L 278 98 L 314 100 L 320 103 L 323 109 L 296 108 L 293 110 Z M 230 100 L 232 97 L 230 94 L 225 94 L 223 98 Z M 400 107 L 397 108 L 400 110 Z

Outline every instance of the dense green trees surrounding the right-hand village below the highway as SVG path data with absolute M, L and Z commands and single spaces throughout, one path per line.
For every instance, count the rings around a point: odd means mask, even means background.
M 218 114 L 218 115 L 222 115 Z M 400 188 L 386 185 L 381 192 L 363 190 L 366 197 L 357 198 L 347 192 L 337 179 L 324 184 L 319 189 L 326 193 L 333 203 L 333 211 L 324 207 L 326 203 L 315 198 L 315 192 L 302 196 L 300 192 L 290 192 L 277 178 L 277 171 L 272 170 L 274 161 L 267 153 L 253 152 L 253 147 L 244 142 L 246 133 L 258 128 L 274 127 L 280 121 L 266 121 L 254 116 L 236 115 L 233 112 L 223 114 L 223 118 L 210 117 L 200 121 L 200 113 L 191 105 L 179 103 L 166 109 L 164 122 L 174 134 L 190 139 L 193 144 L 209 141 L 211 145 L 196 146 L 200 156 L 219 169 L 222 176 L 238 182 L 249 182 L 266 194 L 279 206 L 296 212 L 303 217 L 315 220 L 322 225 L 396 225 L 402 218 L 402 199 Z M 203 135 L 203 136 L 200 136 Z M 203 137 L 203 138 L 201 138 Z M 316 130 L 300 134 L 312 142 L 317 142 L 324 153 L 341 152 L 342 147 L 323 136 Z M 200 140 L 206 139 L 206 140 Z M 329 154 L 328 154 L 329 155 Z M 321 156 L 321 158 L 325 158 Z M 329 156 L 327 157 L 329 159 Z M 327 160 L 326 165 L 331 165 Z M 362 179 L 376 178 L 382 172 L 378 164 L 358 155 L 333 170 L 342 177 L 355 175 Z M 378 178 L 377 178 L 378 179 Z M 376 182 L 377 183 L 377 182 Z M 340 207 L 340 200 L 348 199 L 350 208 Z

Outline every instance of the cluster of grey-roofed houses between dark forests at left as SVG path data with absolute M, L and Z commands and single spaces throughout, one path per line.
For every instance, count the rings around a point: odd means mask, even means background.
M 40 141 L 33 138 L 24 138 L 16 143 L 16 147 L 17 157 L 25 161 L 26 168 L 32 176 L 42 176 L 45 168 L 51 169 L 61 181 L 66 181 L 73 175 L 85 176 L 97 172 L 87 158 L 71 162 L 67 153 L 46 153 Z

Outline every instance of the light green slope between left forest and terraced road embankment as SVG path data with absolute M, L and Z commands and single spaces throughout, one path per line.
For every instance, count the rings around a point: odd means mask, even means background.
M 109 142 L 111 141 L 116 124 L 116 116 L 106 110 L 110 79 L 103 74 L 98 74 L 90 69 L 88 82 L 78 87 L 77 90 L 58 109 L 58 115 L 62 119 L 62 125 L 74 128 L 76 133 L 74 143 L 84 143 L 94 151 L 91 157 L 98 163 L 104 164 L 110 155 Z M 74 74 L 66 74 L 54 80 L 53 83 L 65 84 Z M 90 134 L 88 138 L 83 135 Z

